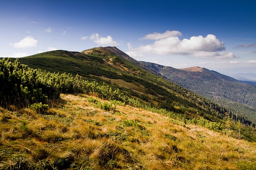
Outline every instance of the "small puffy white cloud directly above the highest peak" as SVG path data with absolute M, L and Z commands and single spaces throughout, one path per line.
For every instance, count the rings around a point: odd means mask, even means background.
M 109 45 L 109 46 L 116 46 L 119 45 L 113 38 L 108 35 L 107 37 L 102 37 L 97 33 L 91 35 L 90 40 L 95 42 L 98 45 Z

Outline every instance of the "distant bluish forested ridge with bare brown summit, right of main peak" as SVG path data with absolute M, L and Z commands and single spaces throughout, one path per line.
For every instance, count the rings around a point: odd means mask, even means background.
M 256 123 L 256 86 L 200 67 L 176 69 L 142 62 L 172 82 L 228 108 L 238 117 Z

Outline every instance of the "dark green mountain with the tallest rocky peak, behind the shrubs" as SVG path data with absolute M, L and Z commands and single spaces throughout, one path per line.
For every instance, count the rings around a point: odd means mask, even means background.
M 49 51 L 23 57 L 19 61 L 34 69 L 79 74 L 90 81 L 105 82 L 148 106 L 182 113 L 187 117 L 220 121 L 226 117 L 226 112 L 232 117 L 232 113 L 225 108 L 153 74 L 152 70 L 148 72 L 149 67 L 116 47 L 97 47 L 81 53 Z

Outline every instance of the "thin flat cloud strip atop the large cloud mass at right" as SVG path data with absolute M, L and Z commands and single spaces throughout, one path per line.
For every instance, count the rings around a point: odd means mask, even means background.
M 164 39 L 164 38 L 170 38 L 170 37 L 174 37 L 174 36 L 181 36 L 181 32 L 179 31 L 170 31 L 167 30 L 164 33 L 153 33 L 153 34 L 148 34 L 145 35 L 143 38 L 143 40 L 160 40 L 160 39 Z

